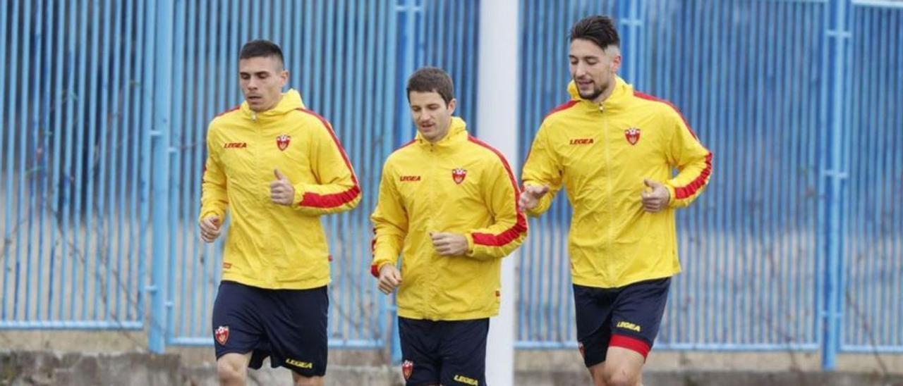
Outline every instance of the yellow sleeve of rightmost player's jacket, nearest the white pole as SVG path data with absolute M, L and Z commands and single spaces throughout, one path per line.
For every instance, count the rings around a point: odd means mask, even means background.
M 539 199 L 539 204 L 533 209 L 527 209 L 526 214 L 539 216 L 552 206 L 552 200 L 558 190 L 562 188 L 561 162 L 555 156 L 548 138 L 548 124 L 543 122 L 536 132 L 533 145 L 524 162 L 524 171 L 521 179 L 524 186 L 542 187 L 548 186 L 549 192 Z

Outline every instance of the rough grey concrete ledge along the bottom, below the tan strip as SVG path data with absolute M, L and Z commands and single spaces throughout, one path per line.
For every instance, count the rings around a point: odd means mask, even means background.
M 154 385 L 216 386 L 210 365 L 185 366 L 179 354 L 79 354 L 51 351 L 0 351 L 0 385 Z M 291 385 L 285 369 L 265 367 L 249 374 L 248 385 Z M 648 371 L 643 382 L 655 386 L 903 386 L 903 375 L 877 372 Z M 327 385 L 400 386 L 404 382 L 386 366 L 330 365 Z M 518 386 L 587 385 L 583 369 L 526 370 L 515 374 Z

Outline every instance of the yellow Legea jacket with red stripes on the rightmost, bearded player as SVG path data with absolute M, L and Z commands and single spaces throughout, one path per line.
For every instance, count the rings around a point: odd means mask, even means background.
M 617 78 L 600 105 L 573 99 L 545 117 L 523 170 L 524 185 L 547 185 L 539 216 L 565 188 L 573 207 L 568 238 L 573 283 L 616 288 L 680 271 L 675 212 L 703 192 L 712 152 L 666 101 L 634 91 Z M 673 175 L 673 168 L 679 170 Z M 664 182 L 669 207 L 643 210 L 643 179 Z

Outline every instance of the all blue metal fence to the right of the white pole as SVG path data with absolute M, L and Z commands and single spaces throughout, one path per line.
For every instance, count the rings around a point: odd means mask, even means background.
M 684 273 L 657 347 L 823 347 L 827 368 L 838 350 L 903 351 L 903 4 L 521 5 L 521 154 L 568 98 L 567 32 L 588 14 L 617 20 L 621 76 L 674 102 L 715 154 L 708 191 L 678 215 Z M 575 346 L 569 225 L 562 197 L 533 220 L 520 348 Z

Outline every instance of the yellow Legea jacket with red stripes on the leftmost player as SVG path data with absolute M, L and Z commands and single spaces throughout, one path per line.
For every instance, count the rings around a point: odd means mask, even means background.
M 295 90 L 270 110 L 247 102 L 214 118 L 207 132 L 200 219 L 228 210 L 223 280 L 265 289 L 311 289 L 330 282 L 320 216 L 360 201 L 358 180 L 329 122 L 303 107 Z M 273 203 L 279 169 L 294 187 L 292 207 Z

